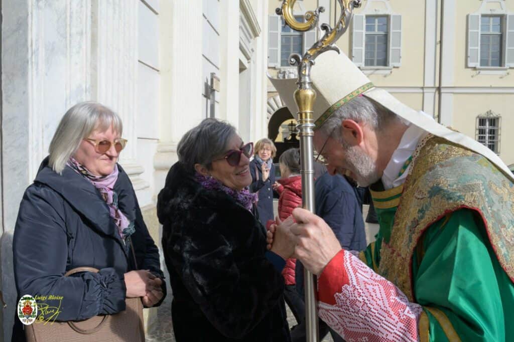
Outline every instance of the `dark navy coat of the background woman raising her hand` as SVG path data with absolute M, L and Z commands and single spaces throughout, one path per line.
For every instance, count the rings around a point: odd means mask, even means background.
M 271 163 L 269 177 L 264 182 L 262 180 L 262 168 L 259 162 L 253 159 L 250 162 L 250 174 L 252 175 L 252 183 L 250 191 L 252 193 L 259 192 L 259 202 L 257 202 L 257 212 L 259 220 L 266 226 L 268 220 L 273 220 L 273 184 L 275 183 L 275 165 Z

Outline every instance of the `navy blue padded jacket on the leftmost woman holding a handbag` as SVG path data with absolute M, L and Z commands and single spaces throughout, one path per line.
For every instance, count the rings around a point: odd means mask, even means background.
M 13 261 L 18 297 L 63 296 L 59 321 L 125 310 L 124 273 L 150 270 L 163 278 L 159 252 L 144 224 L 130 179 L 118 165 L 114 188 L 120 210 L 135 221 L 131 237 L 137 266 L 132 252 L 125 252 L 116 223 L 95 186 L 68 166 L 59 175 L 47 163 L 45 159 L 25 191 L 16 220 Z M 100 272 L 63 276 L 81 266 Z M 166 291 L 165 286 L 162 289 Z

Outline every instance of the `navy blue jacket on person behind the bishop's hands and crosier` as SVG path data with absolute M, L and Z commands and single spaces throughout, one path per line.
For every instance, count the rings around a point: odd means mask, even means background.
M 341 247 L 350 251 L 366 248 L 366 233 L 362 219 L 361 204 L 354 187 L 341 175 L 325 173 L 316 180 L 316 215 L 332 228 Z M 296 283 L 303 293 L 303 265 L 297 260 Z

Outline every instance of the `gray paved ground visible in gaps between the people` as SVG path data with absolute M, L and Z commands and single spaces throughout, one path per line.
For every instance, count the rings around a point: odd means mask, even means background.
M 368 206 L 364 205 L 363 208 L 363 217 L 365 218 L 368 214 Z M 378 232 L 378 224 L 365 224 L 366 230 L 366 241 L 368 243 L 375 240 L 375 234 Z M 167 275 L 168 276 L 168 275 Z M 154 325 L 153 330 L 146 335 L 147 342 L 161 342 L 161 341 L 175 341 L 175 337 L 173 335 L 173 325 L 171 322 L 171 299 L 172 299 L 171 289 L 168 288 L 168 296 L 159 307 L 158 311 L 158 319 L 157 323 Z M 287 307 L 287 305 L 286 305 Z M 290 312 L 289 308 L 287 308 L 287 321 L 289 322 L 289 327 L 295 326 L 296 319 Z M 328 334 L 322 342 L 333 342 L 332 336 Z

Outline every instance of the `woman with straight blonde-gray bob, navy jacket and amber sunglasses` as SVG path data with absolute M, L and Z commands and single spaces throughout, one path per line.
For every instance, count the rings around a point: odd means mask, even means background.
M 166 294 L 157 246 L 117 164 L 126 143 L 121 134 L 120 117 L 107 107 L 71 107 L 20 204 L 13 240 L 18 297 L 48 296 L 38 306 L 60 304 L 58 321 L 121 312 L 126 297 L 157 306 Z M 100 271 L 64 277 L 77 267 Z M 15 322 L 13 340 L 24 340 Z

